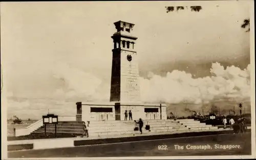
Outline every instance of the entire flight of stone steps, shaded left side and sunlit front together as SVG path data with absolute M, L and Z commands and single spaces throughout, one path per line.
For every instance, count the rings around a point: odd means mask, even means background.
M 168 119 L 168 120 L 144 120 L 142 128 L 143 134 L 175 134 L 191 131 L 217 130 L 218 127 L 200 123 L 194 119 Z M 83 121 L 59 121 L 56 128 L 57 135 L 61 137 L 75 137 L 83 134 Z M 146 124 L 150 125 L 150 130 L 146 130 Z M 90 121 L 87 128 L 90 137 L 118 136 L 140 134 L 134 131 L 135 122 L 131 121 Z M 32 135 L 44 135 L 45 126 L 41 126 L 32 132 Z M 46 134 L 55 134 L 55 124 L 46 125 Z

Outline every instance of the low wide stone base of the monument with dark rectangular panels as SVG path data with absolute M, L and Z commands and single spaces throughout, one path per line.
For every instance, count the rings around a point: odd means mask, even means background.
M 132 112 L 132 119 L 138 120 L 160 120 L 167 119 L 166 105 L 162 103 L 141 103 L 141 102 L 106 102 L 88 103 L 77 102 L 77 121 L 109 121 L 124 120 L 127 111 Z

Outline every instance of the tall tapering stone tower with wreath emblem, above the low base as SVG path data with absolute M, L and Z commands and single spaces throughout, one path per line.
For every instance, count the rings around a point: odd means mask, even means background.
M 117 32 L 111 37 L 114 48 L 110 101 L 140 102 L 138 55 L 135 50 L 137 37 L 131 34 L 134 24 L 124 21 L 114 24 Z

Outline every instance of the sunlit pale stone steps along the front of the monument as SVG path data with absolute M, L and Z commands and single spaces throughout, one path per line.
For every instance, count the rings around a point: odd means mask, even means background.
M 144 120 L 143 123 L 142 132 L 154 134 L 218 129 L 194 119 Z M 146 124 L 150 125 L 150 130 L 145 129 Z M 90 137 L 140 134 L 140 131 L 134 131 L 134 127 L 134 121 L 90 121 L 88 126 Z

